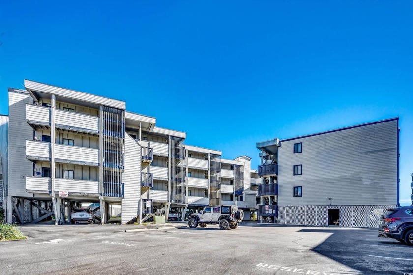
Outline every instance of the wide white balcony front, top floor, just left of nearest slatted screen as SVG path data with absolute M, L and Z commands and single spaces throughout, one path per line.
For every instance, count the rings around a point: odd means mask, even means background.
M 99 134 L 99 117 L 56 109 L 55 126 L 73 133 Z

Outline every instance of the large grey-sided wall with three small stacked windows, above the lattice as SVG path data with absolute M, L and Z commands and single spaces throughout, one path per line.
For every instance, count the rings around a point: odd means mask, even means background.
M 397 120 L 281 141 L 279 205 L 396 205 L 397 146 Z M 300 164 L 302 175 L 293 176 Z M 302 197 L 293 197 L 294 186 Z

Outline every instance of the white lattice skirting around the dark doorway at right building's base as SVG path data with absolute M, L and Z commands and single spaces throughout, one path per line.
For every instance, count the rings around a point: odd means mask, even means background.
M 340 226 L 378 227 L 380 216 L 396 205 L 278 206 L 278 224 L 328 225 L 328 209 L 340 209 Z

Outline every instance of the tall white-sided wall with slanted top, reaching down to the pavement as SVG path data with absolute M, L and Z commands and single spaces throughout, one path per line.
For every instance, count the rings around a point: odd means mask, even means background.
M 122 199 L 122 224 L 136 218 L 141 196 L 141 146 L 125 134 L 124 197 Z

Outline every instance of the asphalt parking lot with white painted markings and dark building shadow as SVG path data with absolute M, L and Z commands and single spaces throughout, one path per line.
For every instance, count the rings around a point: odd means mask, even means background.
M 29 239 L 0 243 L 0 274 L 413 273 L 413 247 L 375 229 L 183 226 L 23 226 Z

